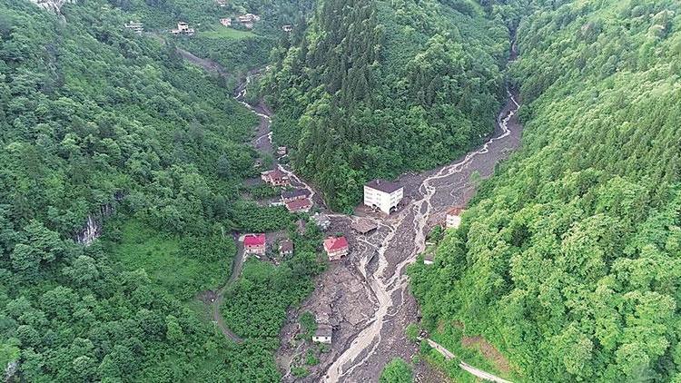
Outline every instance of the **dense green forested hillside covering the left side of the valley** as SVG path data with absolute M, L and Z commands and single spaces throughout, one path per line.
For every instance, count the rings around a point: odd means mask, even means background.
M 104 0 L 60 16 L 0 0 L 0 365 L 32 382 L 277 381 L 262 321 L 225 339 L 195 297 L 231 272 L 232 231 L 291 230 L 283 208 L 242 201 L 257 119 L 173 44 L 125 30 Z M 103 207 L 105 209 L 103 209 Z M 104 236 L 75 234 L 106 211 Z M 274 313 L 321 270 L 311 241 L 248 280 L 287 289 L 224 307 Z M 274 282 L 272 282 L 274 283 Z M 258 286 L 260 288 L 260 285 Z M 281 309 L 283 308 L 283 309 Z M 276 309 L 276 311 L 274 311 Z M 240 315 L 248 315 L 242 311 Z M 255 314 L 254 314 L 255 315 Z M 235 320 L 232 320 L 236 323 Z

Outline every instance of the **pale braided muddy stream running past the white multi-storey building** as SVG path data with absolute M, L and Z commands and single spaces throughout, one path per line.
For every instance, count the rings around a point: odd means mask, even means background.
M 369 320 L 368 325 L 351 341 L 350 346 L 336 358 L 328 368 L 324 381 L 338 382 L 341 380 L 359 381 L 364 378 L 375 378 L 371 374 L 359 376 L 353 375 L 356 369 L 379 354 L 380 348 L 390 347 L 396 334 L 403 332 L 401 326 L 388 327 L 386 325 L 400 312 L 400 304 L 407 300 L 409 282 L 405 274 L 406 266 L 416 260 L 417 255 L 425 250 L 426 233 L 429 229 L 429 221 L 435 212 L 446 209 L 450 199 L 442 198 L 434 200 L 438 192 L 451 195 L 452 182 L 461 182 L 459 179 L 450 180 L 453 176 L 470 170 L 471 164 L 484 157 L 494 149 L 499 152 L 497 143 L 504 142 L 512 133 L 509 122 L 518 111 L 519 104 L 510 92 L 508 104 L 498 116 L 498 133 L 488 142 L 485 142 L 478 150 L 469 152 L 461 161 L 454 162 L 439 168 L 435 172 L 425 174 L 418 184 L 418 195 L 410 203 L 409 209 L 400 213 L 390 221 L 390 231 L 380 242 L 378 247 L 379 265 L 373 273 L 368 270 L 370 252 L 364 259 L 360 259 L 360 272 L 370 283 L 373 296 L 378 301 L 378 308 Z M 495 158 L 497 160 L 497 158 Z M 496 161 L 495 161 L 496 163 Z M 489 163 L 488 163 L 489 164 Z M 396 264 L 391 260 L 400 260 Z M 384 329 L 386 328 L 386 329 Z

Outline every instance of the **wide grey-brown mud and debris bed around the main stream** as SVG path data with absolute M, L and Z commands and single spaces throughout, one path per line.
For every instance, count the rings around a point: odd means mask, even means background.
M 281 349 L 277 360 L 285 374 L 284 381 L 378 381 L 380 371 L 392 358 L 410 360 L 418 345 L 406 339 L 404 329 L 418 321 L 419 309 L 410 294 L 405 269 L 424 249 L 425 234 L 444 221 L 451 206 L 465 205 L 473 196 L 475 184 L 471 174 L 489 177 L 495 165 L 518 147 L 521 126 L 515 115 L 515 99 L 499 114 L 497 130 L 485 145 L 464 158 L 438 169 L 410 173 L 400 177 L 404 185 L 405 206 L 390 217 L 367 214 L 379 223 L 379 230 L 356 235 L 350 228 L 351 217 L 331 216 L 330 232 L 349 237 L 350 255 L 334 262 L 317 280 L 317 289 L 301 309 L 291 312 L 281 331 Z M 291 359 L 304 355 L 309 345 L 295 340 L 301 313 L 311 311 L 328 315 L 333 326 L 333 343 L 329 352 L 310 369 L 306 378 L 293 378 Z M 422 363 L 415 368 L 418 381 L 442 381 L 438 372 Z

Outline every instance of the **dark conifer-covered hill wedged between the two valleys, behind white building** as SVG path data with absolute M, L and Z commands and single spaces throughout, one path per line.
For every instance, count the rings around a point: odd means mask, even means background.
M 491 132 L 508 30 L 468 0 L 321 1 L 272 54 L 274 140 L 334 209 L 361 184 L 448 162 Z

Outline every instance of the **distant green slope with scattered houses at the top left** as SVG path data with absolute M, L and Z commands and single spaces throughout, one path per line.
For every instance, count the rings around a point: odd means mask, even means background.
M 159 34 L 203 58 L 228 67 L 232 74 L 262 67 L 270 50 L 287 34 L 281 25 L 304 25 L 313 0 L 108 0 L 122 10 L 126 21 L 142 22 L 147 32 Z M 237 22 L 238 15 L 260 15 L 252 30 Z M 220 24 L 231 18 L 232 26 Z M 170 30 L 183 21 L 196 31 L 191 37 L 172 37 Z

